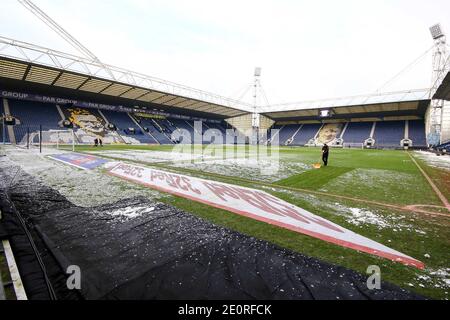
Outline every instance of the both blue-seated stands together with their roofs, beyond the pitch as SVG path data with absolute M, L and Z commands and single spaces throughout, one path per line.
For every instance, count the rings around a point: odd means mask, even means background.
M 99 61 L 0 38 L 0 141 L 248 143 L 253 106 Z M 450 139 L 448 55 L 435 89 L 259 108 L 258 143 L 425 148 Z M 439 125 L 436 129 L 436 101 Z M 195 127 L 195 122 L 202 125 Z M 52 134 L 74 128 L 74 136 Z M 270 130 L 275 129 L 275 131 Z M 34 141 L 33 140 L 33 141 Z

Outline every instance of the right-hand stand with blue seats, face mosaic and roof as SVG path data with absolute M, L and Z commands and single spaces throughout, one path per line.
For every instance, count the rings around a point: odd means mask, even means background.
M 373 139 L 370 144 L 373 148 L 427 147 L 425 113 L 430 100 L 425 98 L 426 92 L 406 92 L 402 100 L 397 96 L 398 93 L 369 96 L 365 100 L 379 102 L 359 105 L 327 100 L 311 103 L 311 107 L 277 106 L 279 111 L 264 115 L 276 121 L 274 128 L 280 128 L 280 145 L 311 146 L 324 142 L 331 146 L 363 145 Z M 355 98 L 361 97 L 351 99 Z M 392 98 L 395 100 L 390 101 Z M 328 106 L 314 108 L 314 104 Z M 331 112 L 330 117 L 319 115 L 324 109 Z

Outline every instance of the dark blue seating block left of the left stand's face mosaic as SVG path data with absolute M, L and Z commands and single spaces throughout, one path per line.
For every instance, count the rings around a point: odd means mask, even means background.
M 60 129 L 58 122 L 61 121 L 61 116 L 54 104 L 8 100 L 11 115 L 20 120 L 20 125 L 14 126 L 14 134 L 16 141 L 20 142 L 30 132 L 39 130 Z

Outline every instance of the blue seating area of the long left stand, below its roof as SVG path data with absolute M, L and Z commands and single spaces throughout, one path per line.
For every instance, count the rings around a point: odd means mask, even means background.
M 191 137 L 194 136 L 194 120 L 183 120 L 176 118 L 154 117 L 144 113 L 127 113 L 111 110 L 75 108 L 75 114 L 72 113 L 73 107 L 66 105 L 58 105 L 51 103 L 42 103 L 34 101 L 22 101 L 15 99 L 2 99 L 9 105 L 9 114 L 16 119 L 16 124 L 7 126 L 7 129 L 13 129 L 15 141 L 20 142 L 27 132 L 36 132 L 40 128 L 43 131 L 64 129 L 62 120 L 69 120 L 75 128 L 83 129 L 88 126 L 91 121 L 96 122 L 96 126 L 101 127 L 102 131 L 117 133 L 123 142 L 131 144 L 173 144 L 172 135 L 175 137 L 187 134 L 184 140 L 180 138 L 179 142 L 192 143 Z M 2 109 L 3 110 L 3 109 Z M 2 111 L 3 112 L 3 111 Z M 84 121 L 75 120 L 77 113 L 84 116 L 94 117 L 94 120 Z M 79 116 L 79 115 L 78 115 Z M 224 125 L 220 122 L 211 123 L 201 121 L 202 132 L 197 132 L 202 136 L 209 130 L 209 134 L 226 135 Z M 108 126 L 112 126 L 108 128 Z M 84 128 L 86 129 L 86 128 Z M 88 128 L 89 129 L 89 128 Z M 90 128 L 92 129 L 92 128 Z M 9 130 L 6 130 L 8 132 Z M 88 130 L 89 131 L 89 130 Z M 90 130 L 93 137 L 96 135 Z M 75 133 L 77 136 L 80 133 Z M 83 131 L 83 134 L 85 132 Z M 9 142 L 9 136 L 6 135 L 6 142 Z M 81 141 L 81 139 L 78 139 Z M 89 143 L 91 140 L 88 140 Z M 207 143 L 205 141 L 205 143 Z M 214 143 L 223 143 L 223 141 L 215 141 Z

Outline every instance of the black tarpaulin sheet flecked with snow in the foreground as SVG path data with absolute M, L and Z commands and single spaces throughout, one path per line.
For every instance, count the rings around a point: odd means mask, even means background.
M 87 299 L 402 299 L 414 295 L 143 198 L 37 221 Z M 45 230 L 45 231 L 44 231 Z M 66 266 L 63 266 L 64 268 Z

